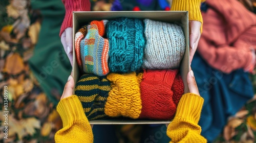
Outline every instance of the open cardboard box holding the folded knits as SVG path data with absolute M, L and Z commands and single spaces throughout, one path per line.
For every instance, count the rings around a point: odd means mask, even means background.
M 157 21 L 177 23 L 183 28 L 185 38 L 186 38 L 186 51 L 183 56 L 180 65 L 180 74 L 184 83 L 184 92 L 187 93 L 188 85 L 186 81 L 187 73 L 189 71 L 189 43 L 188 43 L 188 12 L 187 11 L 108 11 L 108 12 L 73 12 L 73 77 L 75 83 L 78 81 L 81 73 L 75 58 L 75 33 L 79 30 L 81 26 L 88 24 L 93 20 L 102 19 L 115 19 L 118 17 L 128 17 L 128 18 L 141 18 L 141 19 L 152 19 Z M 74 89 L 75 91 L 75 89 Z M 73 91 L 73 92 L 74 92 Z M 170 121 L 155 121 L 155 120 L 133 120 L 126 117 L 119 117 L 118 119 L 110 120 L 95 120 L 90 121 L 90 124 L 165 124 L 170 123 Z

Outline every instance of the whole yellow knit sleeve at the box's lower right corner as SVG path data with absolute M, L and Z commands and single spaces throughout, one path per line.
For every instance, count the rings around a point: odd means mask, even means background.
M 193 93 L 182 96 L 174 120 L 167 127 L 170 142 L 207 142 L 198 125 L 204 99 Z

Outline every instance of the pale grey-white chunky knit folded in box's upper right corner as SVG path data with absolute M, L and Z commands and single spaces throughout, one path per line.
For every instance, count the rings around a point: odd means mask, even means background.
M 173 23 L 145 19 L 146 45 L 143 68 L 176 69 L 184 55 L 186 42 L 183 30 Z

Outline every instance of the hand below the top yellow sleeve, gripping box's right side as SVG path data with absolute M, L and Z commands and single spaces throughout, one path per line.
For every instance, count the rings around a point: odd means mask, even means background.
M 201 22 L 189 20 L 189 63 L 191 64 L 201 37 Z

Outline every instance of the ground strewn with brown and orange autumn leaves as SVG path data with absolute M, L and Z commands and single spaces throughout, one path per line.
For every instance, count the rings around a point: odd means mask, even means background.
M 0 142 L 54 142 L 62 123 L 28 64 L 40 31 L 40 12 L 32 11 L 27 0 L 1 0 L 0 19 L 4 19 L 0 21 Z M 256 76 L 251 75 L 251 81 L 255 89 Z M 4 139 L 5 111 L 8 139 Z M 215 142 L 255 142 L 255 136 L 256 97 L 229 118 Z

